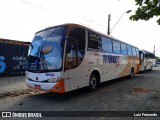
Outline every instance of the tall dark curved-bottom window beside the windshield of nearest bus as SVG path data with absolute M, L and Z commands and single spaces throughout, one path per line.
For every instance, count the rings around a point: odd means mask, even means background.
M 85 54 L 85 29 L 72 27 L 66 45 L 65 69 L 78 67 Z

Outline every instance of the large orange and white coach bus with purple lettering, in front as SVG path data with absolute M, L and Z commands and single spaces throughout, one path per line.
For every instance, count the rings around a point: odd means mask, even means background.
M 139 72 L 139 49 L 78 24 L 35 33 L 28 53 L 28 87 L 64 93 Z

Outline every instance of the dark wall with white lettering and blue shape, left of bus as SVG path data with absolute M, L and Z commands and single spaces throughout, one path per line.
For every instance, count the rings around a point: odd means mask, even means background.
M 28 46 L 0 41 L 0 76 L 24 74 L 27 67 Z

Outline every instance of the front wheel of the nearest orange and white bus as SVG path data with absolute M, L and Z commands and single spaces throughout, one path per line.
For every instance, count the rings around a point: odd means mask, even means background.
M 95 90 L 98 86 L 98 78 L 96 74 L 92 74 L 89 80 L 89 88 L 90 90 Z

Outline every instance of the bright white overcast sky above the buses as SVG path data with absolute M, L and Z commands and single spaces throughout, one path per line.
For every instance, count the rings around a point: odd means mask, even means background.
M 32 41 L 35 32 L 46 27 L 78 23 L 107 34 L 117 25 L 111 36 L 160 57 L 160 26 L 156 18 L 131 21 L 137 6 L 134 0 L 0 0 L 0 38 Z M 131 13 L 125 13 L 132 10 Z

